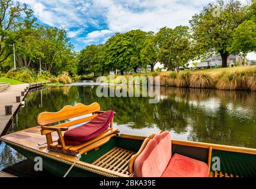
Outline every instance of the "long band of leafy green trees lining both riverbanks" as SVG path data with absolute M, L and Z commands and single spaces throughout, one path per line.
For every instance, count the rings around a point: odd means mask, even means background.
M 0 71 L 14 65 L 41 67 L 51 74 L 68 71 L 75 76 L 100 76 L 109 71 L 136 73 L 154 71 L 156 63 L 168 70 L 185 66 L 188 61 L 222 56 L 227 66 L 231 54 L 256 51 L 256 0 L 242 4 L 238 0 L 218 0 L 205 6 L 190 20 L 190 26 L 163 27 L 158 32 L 131 30 L 116 33 L 103 44 L 91 44 L 80 52 L 73 50 L 67 31 L 41 25 L 26 4 L 0 1 Z

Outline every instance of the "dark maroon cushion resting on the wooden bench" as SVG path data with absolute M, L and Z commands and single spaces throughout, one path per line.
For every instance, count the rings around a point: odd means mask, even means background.
M 89 139 L 94 138 L 94 136 L 103 132 L 107 129 L 114 116 L 113 110 L 108 110 L 107 112 L 101 113 L 90 122 L 85 123 L 77 128 L 70 129 L 64 133 L 64 141 L 66 145 L 79 145 Z

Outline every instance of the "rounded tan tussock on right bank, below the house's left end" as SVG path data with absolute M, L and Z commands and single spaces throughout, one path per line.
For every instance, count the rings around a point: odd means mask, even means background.
M 212 88 L 213 79 L 207 74 L 193 74 L 190 76 L 190 87 L 193 88 Z

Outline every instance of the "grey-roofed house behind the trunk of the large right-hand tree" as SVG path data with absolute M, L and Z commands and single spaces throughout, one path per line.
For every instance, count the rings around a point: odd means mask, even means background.
M 241 54 L 231 55 L 228 57 L 228 67 L 233 67 L 233 66 L 238 66 L 238 65 L 243 66 L 243 63 L 245 64 L 244 66 L 247 66 L 248 60 L 246 57 L 242 56 Z M 222 66 L 222 57 L 212 56 L 212 57 L 208 57 L 202 63 L 197 63 L 196 67 L 198 67 L 198 68 L 207 68 L 208 67 L 209 68 L 209 67 L 219 67 L 219 66 Z

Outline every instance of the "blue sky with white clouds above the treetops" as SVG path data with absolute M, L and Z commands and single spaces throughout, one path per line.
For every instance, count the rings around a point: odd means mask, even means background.
M 40 24 L 62 27 L 75 50 L 100 44 L 116 32 L 188 25 L 211 0 L 19 0 Z M 255 56 L 255 54 L 254 54 Z M 256 56 L 254 58 L 256 60 Z

